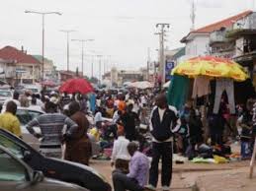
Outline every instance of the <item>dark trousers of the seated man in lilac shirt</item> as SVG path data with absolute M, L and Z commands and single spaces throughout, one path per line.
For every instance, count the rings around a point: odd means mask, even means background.
M 114 191 L 143 191 L 134 178 L 128 177 L 120 171 L 114 171 L 112 174 Z

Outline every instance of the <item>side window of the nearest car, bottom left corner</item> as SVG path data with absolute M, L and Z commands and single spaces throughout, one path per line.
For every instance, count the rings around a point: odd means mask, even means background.
M 0 149 L 0 182 L 26 181 L 25 166 Z

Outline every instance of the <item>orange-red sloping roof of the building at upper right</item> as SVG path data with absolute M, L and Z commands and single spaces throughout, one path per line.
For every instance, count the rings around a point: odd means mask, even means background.
M 229 17 L 227 19 L 221 20 L 219 22 L 213 23 L 209 26 L 206 26 L 206 27 L 200 28 L 198 30 L 189 32 L 188 35 L 186 35 L 185 37 L 183 37 L 181 39 L 181 42 L 186 42 L 187 37 L 191 33 L 211 33 L 211 32 L 217 31 L 217 30 L 219 30 L 220 28 L 223 28 L 223 27 L 224 28 L 231 27 L 234 22 L 237 22 L 237 21 L 243 19 L 244 17 L 247 17 L 248 15 L 251 15 L 252 13 L 253 13 L 253 11 L 250 11 L 250 10 L 245 11 L 245 12 L 242 12 L 238 15 L 235 15 L 235 16 Z

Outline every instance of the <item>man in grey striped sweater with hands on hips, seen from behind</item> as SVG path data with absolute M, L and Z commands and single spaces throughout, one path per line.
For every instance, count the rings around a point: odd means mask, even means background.
M 46 113 L 30 121 L 27 129 L 36 138 L 43 138 L 40 151 L 45 157 L 60 159 L 62 157 L 61 143 L 63 140 L 71 139 L 78 126 L 69 117 L 57 113 L 55 103 L 47 101 L 44 107 Z M 65 131 L 64 125 L 67 126 Z M 40 127 L 42 134 L 35 131 L 34 127 L 37 126 Z

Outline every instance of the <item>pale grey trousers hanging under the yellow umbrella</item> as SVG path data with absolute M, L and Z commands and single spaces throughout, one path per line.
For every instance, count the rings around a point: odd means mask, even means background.
M 216 80 L 213 113 L 214 114 L 218 113 L 221 96 L 224 91 L 226 92 L 226 95 L 228 97 L 230 113 L 234 114 L 235 113 L 234 85 L 233 85 L 233 81 L 230 79 L 217 79 Z

